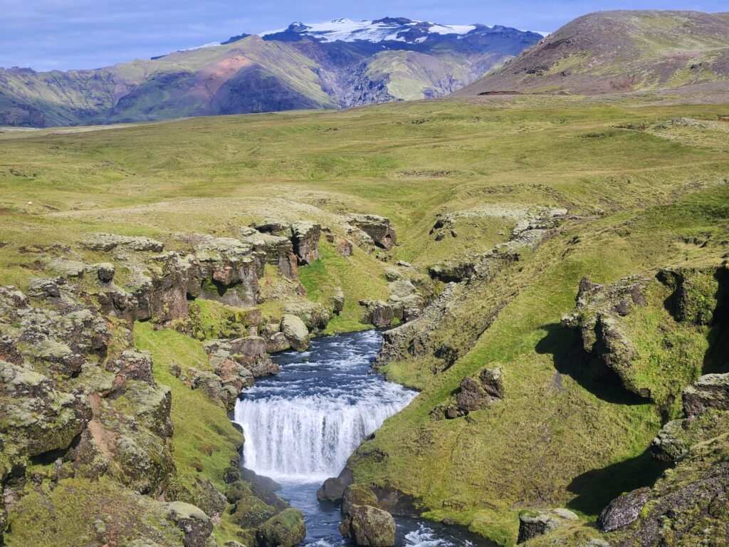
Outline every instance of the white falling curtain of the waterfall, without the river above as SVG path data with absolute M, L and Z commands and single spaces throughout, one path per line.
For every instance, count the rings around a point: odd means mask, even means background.
M 412 392 L 399 394 L 354 402 L 325 395 L 238 400 L 235 422 L 246 439 L 245 465 L 274 478 L 321 481 L 337 476 L 362 439 L 413 398 Z

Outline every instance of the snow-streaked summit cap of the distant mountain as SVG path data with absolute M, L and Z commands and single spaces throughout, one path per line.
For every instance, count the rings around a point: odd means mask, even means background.
M 478 28 L 493 28 L 484 25 L 440 25 L 407 18 L 383 18 L 377 20 L 353 21 L 335 19 L 324 23 L 292 23 L 287 28 L 265 31 L 259 34 L 266 39 L 281 39 L 286 34 L 311 36 L 321 42 L 406 42 L 421 43 L 431 34 L 463 36 Z

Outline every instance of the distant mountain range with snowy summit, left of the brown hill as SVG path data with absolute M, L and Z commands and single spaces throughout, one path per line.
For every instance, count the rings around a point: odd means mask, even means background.
M 405 18 L 292 23 L 95 70 L 0 69 L 0 125 L 337 109 L 447 95 L 542 39 Z

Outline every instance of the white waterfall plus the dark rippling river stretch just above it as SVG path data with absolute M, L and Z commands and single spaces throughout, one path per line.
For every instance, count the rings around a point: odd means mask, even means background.
M 281 374 L 260 381 L 235 405 L 246 468 L 283 480 L 337 476 L 359 443 L 415 397 L 372 373 L 379 333 L 315 344 L 311 361 L 279 357 Z

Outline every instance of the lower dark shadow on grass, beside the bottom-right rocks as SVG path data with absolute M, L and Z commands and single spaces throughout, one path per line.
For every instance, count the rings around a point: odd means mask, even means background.
M 623 492 L 653 486 L 663 470 L 669 466 L 670 464 L 657 462 L 651 457 L 650 451 L 646 450 L 637 457 L 582 473 L 567 486 L 568 492 L 577 494 L 567 507 L 586 515 L 597 516 Z

